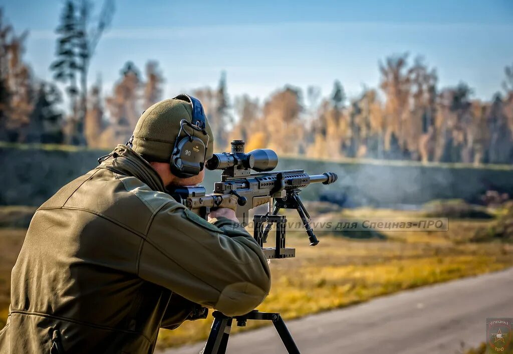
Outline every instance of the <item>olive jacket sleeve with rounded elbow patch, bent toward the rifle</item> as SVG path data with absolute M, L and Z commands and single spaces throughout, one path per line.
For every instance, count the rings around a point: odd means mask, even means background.
M 148 228 L 139 276 L 228 316 L 247 313 L 269 293 L 266 258 L 241 225 L 212 221 L 165 204 Z

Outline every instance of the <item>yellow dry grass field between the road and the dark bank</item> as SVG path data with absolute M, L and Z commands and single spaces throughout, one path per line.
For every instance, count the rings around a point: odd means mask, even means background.
M 412 217 L 420 212 L 356 209 L 333 217 Z M 379 239 L 355 239 L 350 233 L 318 233 L 321 243 L 308 246 L 303 232 L 291 232 L 288 246 L 296 257 L 273 260 L 272 289 L 260 306 L 285 319 L 326 311 L 372 297 L 513 266 L 513 245 L 497 241 L 472 243 L 478 228 L 492 219 L 449 219 L 446 232 L 383 232 Z M 0 229 L 0 324 L 9 303 L 10 269 L 23 243 L 25 229 Z M 349 236 L 349 237 L 348 237 Z M 160 348 L 203 340 L 207 320 L 162 330 Z M 254 324 L 248 323 L 248 327 Z M 236 328 L 235 330 L 239 330 Z

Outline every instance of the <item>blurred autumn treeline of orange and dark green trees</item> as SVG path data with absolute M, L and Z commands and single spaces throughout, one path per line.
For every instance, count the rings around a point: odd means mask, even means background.
M 66 100 L 55 82 L 33 76 L 23 61 L 27 33 L 16 35 L 0 13 L 0 140 L 110 148 L 125 142 L 142 111 L 163 98 L 165 79 L 154 61 L 143 70 L 127 62 L 105 94 L 100 78 L 88 85 L 89 63 L 113 4 L 106 0 L 97 16 L 91 13 L 86 0 L 65 1 L 56 29 L 50 69 Z M 335 81 L 327 97 L 315 86 L 303 92 L 287 85 L 263 102 L 248 95 L 231 99 L 224 73 L 217 87 L 190 93 L 205 106 L 216 151 L 242 138 L 247 150 L 314 158 L 513 162 L 513 65 L 489 102 L 474 99 L 464 82 L 439 87 L 436 70 L 421 58 L 392 55 L 379 70 L 380 86 L 351 98 Z

